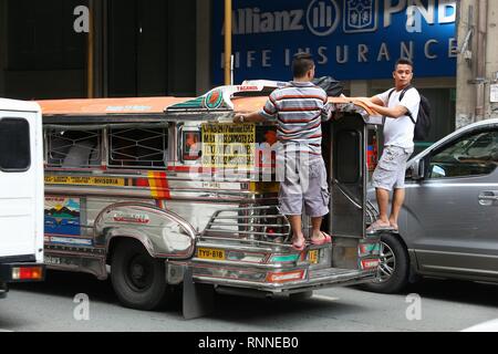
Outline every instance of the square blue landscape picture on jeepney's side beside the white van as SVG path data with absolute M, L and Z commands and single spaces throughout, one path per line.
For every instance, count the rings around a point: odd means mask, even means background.
M 45 197 L 44 219 L 45 235 L 80 236 L 80 198 Z

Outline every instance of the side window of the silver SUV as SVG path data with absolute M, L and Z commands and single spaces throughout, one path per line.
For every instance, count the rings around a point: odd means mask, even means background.
M 428 177 L 481 176 L 498 167 L 498 131 L 465 135 L 430 156 Z

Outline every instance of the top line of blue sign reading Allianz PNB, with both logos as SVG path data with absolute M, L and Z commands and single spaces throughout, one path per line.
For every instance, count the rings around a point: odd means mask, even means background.
M 419 25 L 417 20 L 422 19 L 427 24 L 453 23 L 456 20 L 455 0 L 313 0 L 307 9 L 266 12 L 257 7 L 237 9 L 232 13 L 232 33 L 240 35 L 308 29 L 314 35 L 324 37 L 333 33 L 341 23 L 344 33 L 374 32 L 381 20 L 381 1 L 384 4 L 384 29 L 391 27 L 393 15 L 401 12 L 406 13 L 407 31 L 411 27 Z

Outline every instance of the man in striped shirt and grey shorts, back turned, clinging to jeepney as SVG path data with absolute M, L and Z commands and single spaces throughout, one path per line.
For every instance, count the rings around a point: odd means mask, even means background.
M 325 91 L 312 83 L 314 62 L 310 54 L 298 53 L 292 61 L 293 81 L 273 91 L 261 111 L 235 116 L 234 122 L 277 121 L 277 178 L 280 180 L 279 201 L 282 214 L 292 227 L 292 246 L 305 247 L 302 232 L 302 205 L 311 217 L 313 244 L 331 242 L 320 230 L 323 216 L 329 214 L 329 186 L 322 158 L 322 122 L 331 117 Z

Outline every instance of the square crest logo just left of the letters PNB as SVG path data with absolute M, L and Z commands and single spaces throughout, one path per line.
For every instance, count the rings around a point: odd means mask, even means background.
M 346 0 L 344 32 L 373 32 L 377 29 L 378 0 Z

